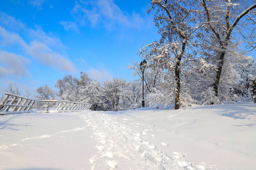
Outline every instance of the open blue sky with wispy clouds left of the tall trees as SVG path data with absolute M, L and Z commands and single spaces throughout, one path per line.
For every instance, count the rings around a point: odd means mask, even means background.
M 0 90 L 20 91 L 86 72 L 104 82 L 133 79 L 127 66 L 159 39 L 148 0 L 1 0 Z

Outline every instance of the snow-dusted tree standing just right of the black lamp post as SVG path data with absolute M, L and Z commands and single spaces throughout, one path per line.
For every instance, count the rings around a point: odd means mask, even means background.
M 187 105 L 186 84 L 187 66 L 193 62 L 195 54 L 192 44 L 195 45 L 195 32 L 203 24 L 197 20 L 198 1 L 152 0 L 151 8 L 156 10 L 154 22 L 159 28 L 161 39 L 145 46 L 140 50 L 141 57 L 146 58 L 149 65 L 158 65 L 168 69 L 170 78 L 170 96 L 175 97 L 175 109 Z M 190 49 L 189 49 L 190 48 Z M 183 98 L 183 99 L 181 99 Z

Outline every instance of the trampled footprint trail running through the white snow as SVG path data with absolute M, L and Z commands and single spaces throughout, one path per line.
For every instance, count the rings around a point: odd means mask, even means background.
M 147 138 L 156 136 L 147 135 L 147 129 L 139 131 L 139 124 L 122 124 L 104 112 L 90 112 L 81 117 L 93 129 L 97 141 L 98 154 L 89 159 L 92 169 L 206 169 L 204 165 L 185 160 L 185 154 L 164 153 Z M 167 142 L 158 145 L 171 147 Z

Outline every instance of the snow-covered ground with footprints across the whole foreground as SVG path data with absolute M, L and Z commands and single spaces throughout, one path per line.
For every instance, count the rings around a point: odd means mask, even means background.
M 255 169 L 256 104 L 0 116 L 0 169 Z

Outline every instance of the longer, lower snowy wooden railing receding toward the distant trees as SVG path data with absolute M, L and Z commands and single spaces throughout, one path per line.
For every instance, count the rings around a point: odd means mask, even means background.
M 79 103 L 74 101 L 64 101 L 64 100 L 39 100 L 46 102 L 46 105 L 43 107 L 46 108 L 46 111 L 49 112 L 50 103 L 59 102 L 59 105 L 55 109 L 55 111 L 82 111 L 86 109 L 90 109 L 92 104 L 89 103 Z

